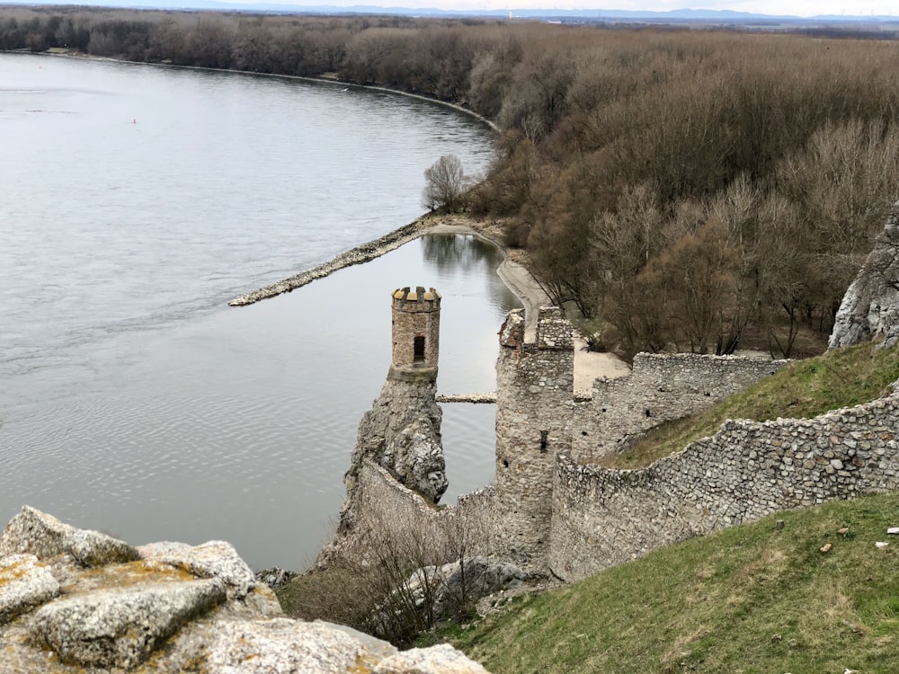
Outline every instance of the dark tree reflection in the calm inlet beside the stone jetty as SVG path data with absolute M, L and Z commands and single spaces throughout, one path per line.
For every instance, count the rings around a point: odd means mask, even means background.
M 518 297 L 495 273 L 503 262 L 503 252 L 494 244 L 470 234 L 424 235 L 422 254 L 441 275 L 485 278 L 489 295 L 496 299 L 503 314 L 521 306 Z

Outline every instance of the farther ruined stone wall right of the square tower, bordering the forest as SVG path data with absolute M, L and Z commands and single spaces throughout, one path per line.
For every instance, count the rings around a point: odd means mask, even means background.
M 646 430 L 695 414 L 784 367 L 788 360 L 638 353 L 633 372 L 597 379 L 575 407 L 572 457 L 588 463 L 621 451 Z

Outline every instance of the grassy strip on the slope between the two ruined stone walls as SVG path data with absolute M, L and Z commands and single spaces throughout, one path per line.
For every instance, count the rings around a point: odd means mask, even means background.
M 648 466 L 694 440 L 713 435 L 727 419 L 807 419 L 874 400 L 897 379 L 899 347 L 873 351 L 867 342 L 827 351 L 823 356 L 791 363 L 702 414 L 666 421 L 630 448 L 598 463 L 613 468 Z

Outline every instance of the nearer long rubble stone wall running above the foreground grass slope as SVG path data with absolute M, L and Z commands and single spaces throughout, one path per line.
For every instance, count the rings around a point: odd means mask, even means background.
M 640 470 L 554 470 L 549 565 L 573 581 L 777 510 L 899 489 L 899 394 L 811 420 L 726 421 Z

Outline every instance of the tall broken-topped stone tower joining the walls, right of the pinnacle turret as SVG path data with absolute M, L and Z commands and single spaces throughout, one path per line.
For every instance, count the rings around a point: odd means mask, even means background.
M 521 309 L 509 313 L 496 360 L 496 491 L 492 552 L 548 568 L 556 455 L 572 444 L 572 328 L 558 307 L 539 309 L 537 340 L 524 341 Z

